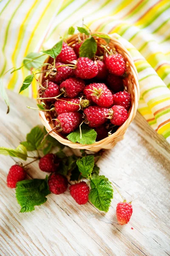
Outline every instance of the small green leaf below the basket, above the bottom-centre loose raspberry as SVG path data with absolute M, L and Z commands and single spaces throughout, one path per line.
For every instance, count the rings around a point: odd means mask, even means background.
M 88 155 L 86 157 L 82 157 L 81 159 L 77 160 L 77 166 L 82 176 L 88 178 L 94 168 L 94 156 Z

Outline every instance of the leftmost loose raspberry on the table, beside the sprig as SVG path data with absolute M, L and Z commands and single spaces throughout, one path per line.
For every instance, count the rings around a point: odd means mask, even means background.
M 17 182 L 25 180 L 26 176 L 26 171 L 22 166 L 19 166 L 18 164 L 11 166 L 7 176 L 7 186 L 11 189 L 14 189 Z

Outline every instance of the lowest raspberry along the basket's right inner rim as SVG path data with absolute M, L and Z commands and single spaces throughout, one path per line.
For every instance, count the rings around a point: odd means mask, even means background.
M 123 106 L 114 105 L 109 110 L 109 115 L 111 117 L 111 123 L 113 125 L 122 125 L 128 117 L 127 110 Z

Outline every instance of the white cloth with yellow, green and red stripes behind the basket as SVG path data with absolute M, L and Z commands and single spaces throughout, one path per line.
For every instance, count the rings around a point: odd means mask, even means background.
M 139 112 L 170 142 L 169 0 L 3 0 L 0 2 L 0 73 L 19 67 L 29 52 L 48 49 L 69 26 L 112 34 L 129 50 L 139 73 Z M 116 33 L 116 34 L 115 34 Z M 29 71 L 4 76 L 18 92 Z M 36 97 L 36 84 L 23 91 Z

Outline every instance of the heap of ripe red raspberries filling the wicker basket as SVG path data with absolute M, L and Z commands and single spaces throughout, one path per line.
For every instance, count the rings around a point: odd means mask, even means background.
M 104 49 L 97 49 L 100 56 L 95 60 L 79 57 L 81 44 L 72 48 L 63 42 L 39 93 L 47 108 L 54 105 L 56 131 L 68 135 L 84 121 L 96 131 L 99 141 L 128 118 L 131 96 L 123 83 L 126 66 L 121 54 L 111 51 L 108 55 Z

